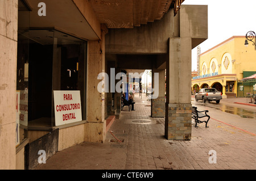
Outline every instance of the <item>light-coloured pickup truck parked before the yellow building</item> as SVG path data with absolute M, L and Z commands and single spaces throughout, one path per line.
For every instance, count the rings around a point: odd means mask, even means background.
M 220 91 L 217 91 L 214 88 L 205 88 L 200 89 L 199 92 L 196 93 L 195 99 L 197 100 L 203 100 L 203 103 L 206 102 L 206 100 L 212 101 L 215 100 L 216 103 L 220 103 L 220 100 L 222 99 L 222 94 Z

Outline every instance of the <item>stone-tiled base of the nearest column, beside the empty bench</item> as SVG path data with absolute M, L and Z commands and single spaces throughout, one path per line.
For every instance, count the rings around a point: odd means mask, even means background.
M 191 104 L 166 103 L 165 137 L 167 140 L 191 140 Z

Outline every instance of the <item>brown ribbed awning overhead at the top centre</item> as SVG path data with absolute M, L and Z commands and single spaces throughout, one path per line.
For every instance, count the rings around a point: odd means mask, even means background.
M 80 0 L 73 0 L 75 2 Z M 163 18 L 171 7 L 176 15 L 185 0 L 89 1 L 100 23 L 108 28 L 133 28 Z

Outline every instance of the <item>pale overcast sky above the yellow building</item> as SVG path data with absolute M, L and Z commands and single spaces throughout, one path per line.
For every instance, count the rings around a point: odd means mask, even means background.
M 256 32 L 255 0 L 185 0 L 182 5 L 208 5 L 208 39 L 199 45 L 201 53 L 232 36 Z M 192 71 L 196 70 L 196 49 L 192 49 Z

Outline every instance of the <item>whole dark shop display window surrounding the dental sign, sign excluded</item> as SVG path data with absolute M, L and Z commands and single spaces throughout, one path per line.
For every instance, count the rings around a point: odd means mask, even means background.
M 26 38 L 19 39 L 17 90 L 24 111 L 20 117 L 27 121 L 28 129 L 55 127 L 56 90 L 80 91 L 85 119 L 86 42 L 56 30 L 29 30 L 22 37 Z

